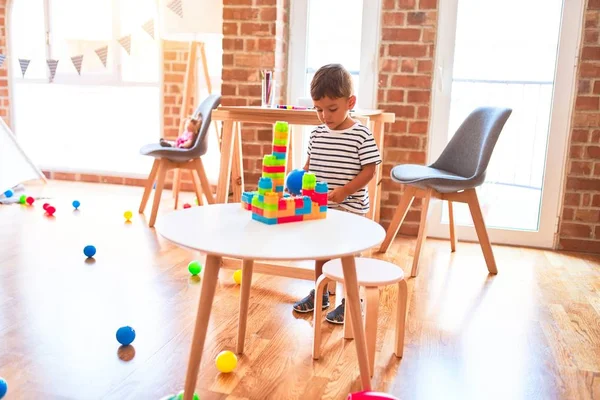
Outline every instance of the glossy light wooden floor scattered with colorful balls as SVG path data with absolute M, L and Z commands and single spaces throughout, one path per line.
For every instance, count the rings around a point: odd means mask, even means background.
M 0 376 L 6 399 L 158 399 L 183 388 L 201 255 L 148 229 L 141 188 L 51 183 L 54 218 L 0 206 Z M 81 208 L 74 212 L 72 200 Z M 191 202 L 191 197 L 186 198 Z M 168 211 L 170 193 L 163 209 Z M 134 211 L 131 224 L 122 217 Z M 160 218 L 160 216 L 159 216 Z M 249 239 L 250 240 L 250 239 Z M 93 244 L 95 262 L 83 247 Z M 411 239 L 385 258 L 406 272 Z M 380 308 L 375 390 L 401 399 L 600 399 L 600 257 L 494 247 L 488 276 L 477 245 L 429 240 L 409 279 L 404 358 L 393 355 L 395 288 Z M 355 348 L 325 323 L 323 357 L 311 357 L 312 316 L 295 300 L 311 282 L 255 275 L 247 353 L 219 374 L 216 354 L 235 349 L 239 286 L 221 271 L 198 381 L 202 400 L 345 399 L 360 389 Z M 337 299 L 338 302 L 340 299 Z M 129 348 L 118 327 L 137 333 Z

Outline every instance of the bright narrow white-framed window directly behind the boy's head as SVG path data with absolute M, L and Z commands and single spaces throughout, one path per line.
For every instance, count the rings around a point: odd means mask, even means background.
M 357 108 L 374 108 L 380 0 L 295 0 L 291 7 L 288 102 L 310 102 L 314 73 L 339 63 L 352 74 Z M 311 130 L 293 136 L 295 165 L 305 162 Z

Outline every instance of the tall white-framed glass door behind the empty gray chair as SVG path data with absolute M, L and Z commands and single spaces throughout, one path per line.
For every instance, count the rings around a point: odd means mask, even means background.
M 440 2 L 430 162 L 479 106 L 513 110 L 477 193 L 495 243 L 553 247 L 558 226 L 583 0 Z M 431 203 L 428 235 L 447 238 Z M 466 204 L 458 238 L 477 240 Z

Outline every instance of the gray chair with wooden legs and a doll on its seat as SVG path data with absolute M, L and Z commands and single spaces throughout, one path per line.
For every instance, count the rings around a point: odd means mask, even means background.
M 152 164 L 152 170 L 146 181 L 146 187 L 144 189 L 144 195 L 142 196 L 142 202 L 140 204 L 139 212 L 143 213 L 150 197 L 150 192 L 156 182 L 156 190 L 154 193 L 154 201 L 152 204 L 152 214 L 150 215 L 149 226 L 153 227 L 156 222 L 156 214 L 158 213 L 158 206 L 160 204 L 160 198 L 162 190 L 165 184 L 165 178 L 167 171 L 175 169 L 175 175 L 173 177 L 173 194 L 175 197 L 175 208 L 179 201 L 179 186 L 181 183 L 181 170 L 189 170 L 192 175 L 192 183 L 196 196 L 198 198 L 198 204 L 203 204 L 202 192 L 206 196 L 206 200 L 209 204 L 215 202 L 202 164 L 202 156 L 206 154 L 208 150 L 208 129 L 210 128 L 211 113 L 212 110 L 216 109 L 221 104 L 221 96 L 217 94 L 209 95 L 201 104 L 198 106 L 194 115 L 202 117 L 202 123 L 196 141 L 189 149 L 179 149 L 176 147 L 162 147 L 159 143 L 147 144 L 140 149 L 140 153 L 145 156 L 154 157 L 154 163 Z

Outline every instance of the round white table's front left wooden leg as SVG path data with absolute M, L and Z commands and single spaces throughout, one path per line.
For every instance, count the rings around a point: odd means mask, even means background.
M 188 369 L 185 377 L 183 400 L 192 400 L 198 372 L 200 370 L 200 361 L 202 360 L 202 351 L 206 340 L 206 331 L 208 321 L 212 310 L 213 298 L 217 287 L 217 278 L 221 268 L 221 257 L 209 254 L 206 257 L 206 266 L 204 276 L 202 277 L 202 289 L 200 291 L 200 300 L 198 302 L 198 312 L 196 314 L 196 324 L 194 326 L 194 335 L 192 337 L 192 347 L 188 361 Z

